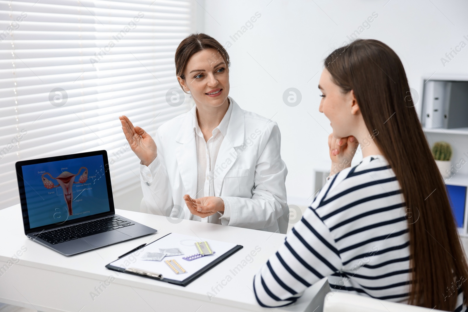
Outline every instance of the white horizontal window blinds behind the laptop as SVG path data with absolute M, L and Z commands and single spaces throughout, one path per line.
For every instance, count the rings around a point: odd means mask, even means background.
M 192 11 L 191 0 L 0 0 L 0 209 L 19 203 L 18 160 L 105 149 L 114 194 L 140 187 L 118 116 L 154 135 L 190 108 L 173 88 Z

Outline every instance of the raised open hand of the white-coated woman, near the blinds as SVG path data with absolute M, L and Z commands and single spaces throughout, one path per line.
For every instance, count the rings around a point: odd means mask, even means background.
M 122 130 L 132 151 L 138 156 L 143 165 L 148 166 L 151 164 L 157 155 L 154 139 L 139 126 L 133 127 L 132 122 L 127 116 L 120 116 L 118 118 L 122 123 Z

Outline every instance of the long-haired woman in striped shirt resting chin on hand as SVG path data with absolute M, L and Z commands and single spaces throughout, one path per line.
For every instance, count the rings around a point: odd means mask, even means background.
M 332 172 L 255 276 L 259 304 L 290 304 L 328 277 L 332 291 L 466 311 L 467 261 L 402 62 L 380 41 L 356 40 L 324 65 Z M 356 140 L 363 160 L 351 167 Z

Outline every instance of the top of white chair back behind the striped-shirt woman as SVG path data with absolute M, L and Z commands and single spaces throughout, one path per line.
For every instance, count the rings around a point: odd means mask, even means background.
M 323 312 L 437 312 L 442 310 L 359 296 L 345 291 L 331 291 L 323 301 Z

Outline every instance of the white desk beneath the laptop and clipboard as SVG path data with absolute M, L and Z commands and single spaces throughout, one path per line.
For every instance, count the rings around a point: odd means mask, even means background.
M 66 257 L 24 235 L 19 204 L 0 210 L 0 302 L 44 312 L 271 311 L 257 304 L 252 281 L 260 266 L 283 243 L 284 234 L 190 220 L 173 224 L 166 217 L 127 210 L 116 210 L 116 213 L 159 232 Z M 132 248 L 170 232 L 232 242 L 244 248 L 187 287 L 118 273 L 104 267 Z M 241 264 L 256 246 L 261 251 L 253 257 L 254 261 L 247 263 L 234 276 L 230 270 Z M 10 262 L 11 266 L 8 266 L 7 261 L 11 261 L 11 257 L 22 248 L 27 250 L 18 257 L 19 261 L 14 259 L 17 263 L 11 265 L 13 262 Z M 7 269 L 3 265 L 7 265 Z M 210 300 L 207 292 L 213 293 L 212 287 L 216 287 L 227 275 L 232 280 L 222 289 L 218 286 L 219 292 Z M 110 280 L 110 276 L 114 276 L 115 280 L 106 288 L 101 286 Z M 223 283 L 226 284 L 226 281 Z M 95 291 L 95 287 L 99 286 L 102 289 L 100 294 Z M 295 304 L 274 310 L 322 311 L 323 298 L 329 291 L 327 286 L 328 283 L 322 280 L 309 288 Z M 92 291 L 98 296 L 92 298 Z

